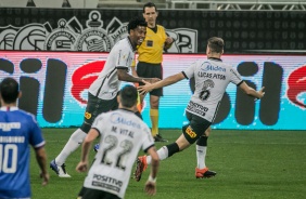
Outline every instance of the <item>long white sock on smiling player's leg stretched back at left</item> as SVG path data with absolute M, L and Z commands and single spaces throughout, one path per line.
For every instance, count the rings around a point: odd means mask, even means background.
M 78 146 L 82 143 L 86 135 L 87 134 L 84 131 L 77 129 L 72 134 L 72 136 L 69 137 L 68 142 L 66 143 L 62 151 L 55 158 L 55 163 L 58 165 L 62 165 L 63 163 L 65 163 L 68 156 L 78 148 Z

